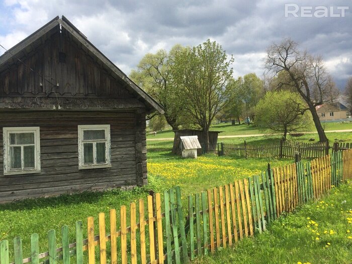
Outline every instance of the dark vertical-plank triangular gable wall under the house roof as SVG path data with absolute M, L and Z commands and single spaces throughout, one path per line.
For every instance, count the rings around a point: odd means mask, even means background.
M 39 102 L 49 92 L 65 98 L 134 97 L 69 35 L 57 27 L 50 38 L 21 58 L 23 63 L 16 61 L 0 72 L 0 97 L 38 97 Z

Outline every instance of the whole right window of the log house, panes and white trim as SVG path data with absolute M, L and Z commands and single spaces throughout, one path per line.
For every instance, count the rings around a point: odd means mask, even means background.
M 111 167 L 110 125 L 78 126 L 78 168 Z

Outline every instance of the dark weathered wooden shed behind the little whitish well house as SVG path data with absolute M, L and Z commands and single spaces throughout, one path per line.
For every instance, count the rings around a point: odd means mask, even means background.
M 199 143 L 201 144 L 202 148 L 197 150 L 198 155 L 203 153 L 203 147 L 205 142 L 204 132 L 202 130 L 196 129 L 180 129 L 180 130 L 173 130 L 175 136 L 173 138 L 173 146 L 172 146 L 172 153 L 181 155 L 180 143 L 182 136 L 198 136 Z M 221 131 L 209 131 L 209 151 L 213 151 L 217 149 L 218 143 L 218 134 Z

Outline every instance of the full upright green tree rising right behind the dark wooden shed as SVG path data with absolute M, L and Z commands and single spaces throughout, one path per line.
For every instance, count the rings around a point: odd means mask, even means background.
M 179 86 L 179 103 L 192 122 L 204 132 L 209 144 L 211 122 L 230 96 L 228 81 L 232 76 L 233 57 L 215 41 L 207 40 L 191 49 L 178 51 L 173 59 L 172 76 Z

